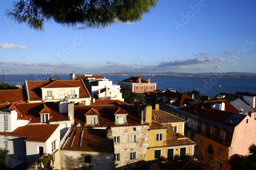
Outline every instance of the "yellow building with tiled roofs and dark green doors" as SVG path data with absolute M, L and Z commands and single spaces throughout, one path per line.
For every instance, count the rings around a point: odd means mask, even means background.
M 146 122 L 150 123 L 147 161 L 160 157 L 169 161 L 193 157 L 196 143 L 183 135 L 186 120 L 159 110 L 159 105 L 151 113 L 146 116 Z

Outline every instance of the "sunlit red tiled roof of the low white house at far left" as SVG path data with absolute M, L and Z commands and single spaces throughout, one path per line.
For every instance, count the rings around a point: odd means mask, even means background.
M 27 137 L 25 141 L 46 142 L 59 125 L 26 125 L 18 127 L 13 132 L 8 132 L 8 136 Z M 0 132 L 0 135 L 6 133 Z

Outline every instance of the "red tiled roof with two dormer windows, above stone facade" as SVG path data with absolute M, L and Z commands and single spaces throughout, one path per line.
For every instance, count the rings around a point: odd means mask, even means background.
M 127 124 L 117 125 L 115 124 L 115 115 L 113 114 L 113 109 L 121 108 L 128 114 L 126 115 Z M 102 106 L 74 106 L 75 114 L 75 124 L 80 124 L 81 126 L 86 126 L 84 110 L 89 110 L 91 108 L 98 110 L 99 114 L 99 125 L 100 127 L 118 127 L 118 126 L 140 126 L 140 117 L 136 112 L 135 105 L 102 105 Z M 143 124 L 147 125 L 147 124 Z

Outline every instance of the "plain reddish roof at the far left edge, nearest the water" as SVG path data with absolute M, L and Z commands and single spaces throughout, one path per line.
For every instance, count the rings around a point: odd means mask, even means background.
M 0 103 L 27 101 L 25 89 L 0 90 Z

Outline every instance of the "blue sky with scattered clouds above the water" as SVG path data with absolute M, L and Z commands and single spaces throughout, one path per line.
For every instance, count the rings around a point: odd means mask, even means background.
M 135 23 L 45 32 L 9 21 L 0 1 L 0 67 L 9 73 L 256 73 L 256 1 L 170 1 Z

